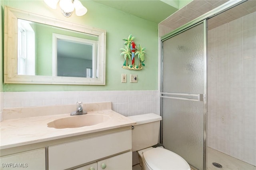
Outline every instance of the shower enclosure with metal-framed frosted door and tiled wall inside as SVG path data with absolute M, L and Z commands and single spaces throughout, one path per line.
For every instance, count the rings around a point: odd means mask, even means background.
M 162 38 L 161 142 L 195 169 L 207 149 L 256 168 L 255 11 L 228 2 Z

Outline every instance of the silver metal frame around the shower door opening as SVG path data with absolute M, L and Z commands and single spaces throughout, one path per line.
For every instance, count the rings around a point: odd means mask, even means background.
M 197 26 L 198 24 L 203 23 L 204 24 L 204 160 L 203 160 L 203 169 L 206 170 L 207 168 L 207 33 L 208 33 L 208 27 L 207 27 L 207 21 L 208 19 L 222 13 L 225 12 L 226 10 L 229 10 L 230 8 L 233 8 L 234 6 L 237 6 L 243 2 L 246 2 L 247 0 L 230 0 L 228 2 L 226 2 L 225 4 L 222 4 L 221 6 L 218 6 L 217 8 L 207 12 L 206 14 L 192 20 L 191 22 L 188 22 L 187 24 L 184 24 L 183 26 L 181 26 L 180 28 L 177 28 L 175 30 L 173 30 L 172 32 L 170 32 L 169 34 L 166 34 L 165 36 L 162 36 L 160 38 L 160 49 L 161 49 L 161 53 L 160 53 L 160 58 L 161 58 L 161 67 L 160 67 L 160 71 L 161 71 L 161 85 L 160 85 L 160 93 L 161 93 L 161 110 L 160 110 L 160 114 L 162 116 L 162 95 L 164 95 L 162 93 L 162 84 L 163 84 L 163 77 L 162 77 L 162 43 L 169 39 L 172 38 L 173 36 L 176 36 L 182 32 L 185 32 L 186 30 L 193 28 L 194 26 Z M 161 128 L 160 128 L 160 143 L 163 142 L 163 131 L 162 131 L 162 122 L 161 122 Z

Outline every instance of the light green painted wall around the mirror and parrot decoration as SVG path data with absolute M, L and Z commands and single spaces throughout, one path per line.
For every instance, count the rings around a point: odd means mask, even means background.
M 5 0 L 2 8 L 9 6 L 67 22 L 106 30 L 106 85 L 23 85 L 2 84 L 3 91 L 112 91 L 158 89 L 158 24 L 103 6 L 96 2 L 82 1 L 88 13 L 82 17 L 72 14 L 64 17 L 60 9 L 52 10 L 43 0 Z M 127 7 L 130 8 L 130 7 Z M 1 23 L 2 24 L 2 23 Z M 140 71 L 122 69 L 124 57 L 120 56 L 123 38 L 136 36 L 135 42 L 146 47 L 145 67 Z M 1 64 L 2 66 L 2 64 Z M 121 74 L 127 74 L 128 82 L 121 83 Z M 138 83 L 129 83 L 130 74 L 138 75 Z M 1 73 L 1 76 L 3 74 Z

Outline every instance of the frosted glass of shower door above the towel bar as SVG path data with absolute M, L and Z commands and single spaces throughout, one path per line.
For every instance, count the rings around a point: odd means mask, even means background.
M 162 49 L 162 92 L 203 93 L 203 25 L 164 41 Z

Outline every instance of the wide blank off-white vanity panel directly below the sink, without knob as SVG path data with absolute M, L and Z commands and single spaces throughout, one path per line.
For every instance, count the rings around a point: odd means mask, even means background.
M 48 147 L 49 170 L 68 169 L 132 149 L 132 130 Z

